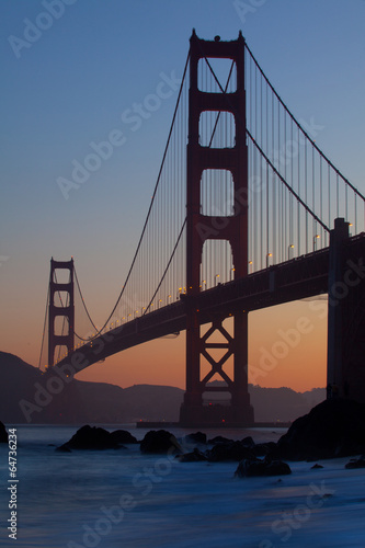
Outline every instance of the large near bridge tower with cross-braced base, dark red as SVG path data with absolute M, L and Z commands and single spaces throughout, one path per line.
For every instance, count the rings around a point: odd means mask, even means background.
M 237 89 L 231 93 L 208 93 L 198 89 L 198 61 L 208 58 L 226 58 L 235 61 Z M 181 408 L 183 425 L 217 424 L 225 421 L 235 425 L 253 423 L 253 409 L 248 392 L 248 313 L 233 315 L 233 335 L 224 328 L 228 313 L 215 317 L 207 332 L 201 334 L 202 320 L 198 311 L 201 290 L 201 264 L 204 242 L 208 239 L 226 240 L 230 243 L 235 278 L 248 274 L 248 148 L 246 139 L 246 91 L 244 91 L 244 39 L 220 42 L 199 39 L 195 31 L 190 48 L 189 95 L 189 144 L 186 168 L 186 391 Z M 231 148 L 212 148 L 199 144 L 199 118 L 204 111 L 229 112 L 235 118 L 236 140 Z M 202 214 L 201 180 L 204 170 L 228 170 L 233 181 L 233 213 L 229 217 Z M 242 199 L 243 197 L 243 199 Z M 204 230 L 202 230 L 202 227 Z M 217 227 L 224 227 L 217 230 Z M 218 233 L 217 233 L 218 232 Z M 209 236 L 209 235 L 214 235 Z M 210 336 L 220 333 L 225 342 L 210 342 Z M 214 336 L 213 336 L 214 341 Z M 215 359 L 210 349 L 220 349 L 224 355 Z M 201 358 L 212 369 L 201 379 Z M 233 378 L 224 370 L 224 365 L 233 358 Z M 225 386 L 209 386 L 218 374 Z M 204 406 L 203 393 L 226 391 L 230 404 Z

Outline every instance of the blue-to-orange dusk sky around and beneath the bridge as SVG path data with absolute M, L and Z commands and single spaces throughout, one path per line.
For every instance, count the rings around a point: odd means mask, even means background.
M 176 94 L 135 133 L 121 116 L 155 93 L 161 72 L 182 75 L 193 27 L 206 39 L 235 39 L 242 30 L 295 116 L 324 126 L 317 145 L 365 192 L 364 0 L 65 0 L 62 10 L 56 2 L 58 19 L 42 15 L 47 3 L 0 3 L 0 350 L 37 365 L 52 256 L 73 255 L 96 323 L 113 308 L 146 217 Z M 32 34 L 30 22 L 46 28 Z M 25 47 L 20 39 L 27 38 Z M 126 142 L 65 199 L 57 179 L 70 178 L 72 160 L 82 161 L 90 142 L 113 129 L 124 132 Z M 323 306 L 301 301 L 250 315 L 251 381 L 297 390 L 324 386 Z M 308 333 L 296 339 L 292 331 L 295 344 L 276 359 L 283 333 L 297 329 L 300 318 Z M 182 333 L 132 349 L 79 378 L 183 388 L 184 339 Z M 272 359 L 260 368 L 267 353 Z

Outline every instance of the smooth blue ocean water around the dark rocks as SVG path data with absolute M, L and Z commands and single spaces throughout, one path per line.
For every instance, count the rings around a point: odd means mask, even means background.
M 8 425 L 9 427 L 9 425 Z M 107 426 L 106 426 L 107 427 Z M 138 439 L 147 431 L 130 425 Z M 282 478 L 233 477 L 236 463 L 179 463 L 139 446 L 58 453 L 72 426 L 18 426 L 18 535 L 7 520 L 8 446 L 0 447 L 0 546 L 62 548 L 364 547 L 365 470 L 345 459 L 290 463 Z M 189 431 L 171 430 L 176 437 Z M 283 431 L 206 431 L 255 442 Z M 186 447 L 187 448 L 187 447 Z

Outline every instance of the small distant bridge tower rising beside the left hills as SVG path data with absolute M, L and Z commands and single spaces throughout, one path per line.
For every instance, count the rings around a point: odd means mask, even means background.
M 56 277 L 56 270 L 69 271 L 69 281 L 59 283 Z M 57 306 L 55 299 L 62 292 L 61 306 Z M 64 318 L 64 334 L 56 334 L 56 318 Z M 55 364 L 55 351 L 57 346 L 66 346 L 68 352 L 72 352 L 75 346 L 75 301 L 73 301 L 73 259 L 70 261 L 50 260 L 49 275 L 49 300 L 48 300 L 48 366 Z

